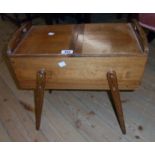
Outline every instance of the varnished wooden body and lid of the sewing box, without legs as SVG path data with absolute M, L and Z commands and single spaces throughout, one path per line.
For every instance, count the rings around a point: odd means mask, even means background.
M 45 68 L 46 89 L 109 89 L 106 73 L 114 69 L 120 89 L 132 90 L 147 60 L 140 44 L 131 24 L 32 26 L 9 58 L 20 88 L 34 89 L 35 73 Z M 62 49 L 74 53 L 64 56 Z

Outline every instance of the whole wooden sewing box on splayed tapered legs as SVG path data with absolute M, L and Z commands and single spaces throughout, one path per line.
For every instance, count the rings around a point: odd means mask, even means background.
M 135 90 L 143 77 L 148 45 L 139 24 L 22 25 L 7 50 L 20 89 L 35 92 L 36 129 L 44 90 L 109 90 L 125 134 L 119 90 Z

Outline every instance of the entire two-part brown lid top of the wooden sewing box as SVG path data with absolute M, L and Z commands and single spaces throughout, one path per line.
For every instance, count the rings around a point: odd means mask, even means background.
M 142 48 L 131 24 L 77 24 L 32 26 L 14 50 L 14 55 L 75 56 L 139 55 Z

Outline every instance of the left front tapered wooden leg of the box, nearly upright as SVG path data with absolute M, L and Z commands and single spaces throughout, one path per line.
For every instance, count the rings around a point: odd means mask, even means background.
M 35 117 L 36 117 L 36 129 L 39 130 L 41 122 L 42 106 L 44 101 L 44 89 L 46 82 L 45 70 L 39 70 L 36 76 L 36 89 L 35 94 Z

